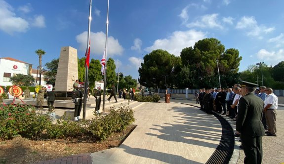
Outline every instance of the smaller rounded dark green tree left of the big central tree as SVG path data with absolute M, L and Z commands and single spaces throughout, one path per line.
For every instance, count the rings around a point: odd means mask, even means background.
M 163 88 L 165 77 L 167 76 L 167 85 L 173 85 L 173 78 L 170 78 L 176 72 L 176 63 L 179 63 L 179 57 L 168 53 L 165 50 L 157 49 L 144 56 L 144 62 L 139 68 L 139 83 L 146 87 Z

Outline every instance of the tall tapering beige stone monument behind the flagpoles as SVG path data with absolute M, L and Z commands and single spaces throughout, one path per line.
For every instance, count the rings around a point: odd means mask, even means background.
M 56 99 L 70 99 L 73 91 L 73 83 L 77 79 L 77 49 L 71 46 L 62 47 L 55 80 L 55 91 L 58 95 Z

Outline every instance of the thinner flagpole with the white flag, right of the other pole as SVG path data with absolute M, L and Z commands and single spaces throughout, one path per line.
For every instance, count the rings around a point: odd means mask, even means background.
M 104 67 L 104 97 L 103 97 L 103 113 L 105 113 L 105 101 L 106 101 L 106 82 L 107 82 L 107 59 L 108 59 L 108 30 L 109 30 L 109 0 L 108 0 L 108 8 L 107 8 L 107 23 L 106 23 L 106 63 Z

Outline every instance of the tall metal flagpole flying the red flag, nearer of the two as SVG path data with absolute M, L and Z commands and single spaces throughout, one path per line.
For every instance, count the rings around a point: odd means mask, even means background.
M 87 51 L 86 51 L 86 58 L 89 55 L 89 47 L 90 47 L 90 31 L 91 31 L 91 12 L 92 12 L 92 0 L 90 0 L 90 7 L 89 7 L 89 21 L 88 21 L 88 37 L 87 37 Z M 89 61 L 87 61 L 89 62 Z M 84 104 L 83 104 L 83 119 L 86 119 L 86 105 L 87 105 L 87 94 L 88 94 L 88 69 L 89 67 L 85 64 L 85 83 L 84 83 Z

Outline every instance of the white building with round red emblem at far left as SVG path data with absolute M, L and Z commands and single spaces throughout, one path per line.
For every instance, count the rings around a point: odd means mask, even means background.
M 37 70 L 32 69 L 32 64 L 11 58 L 1 57 L 0 58 L 0 85 L 12 85 L 10 78 L 17 74 L 32 75 L 35 79 L 37 78 Z M 39 80 L 38 75 L 38 80 Z M 39 83 L 39 81 L 38 81 Z M 41 75 L 41 85 L 45 84 L 44 76 Z

